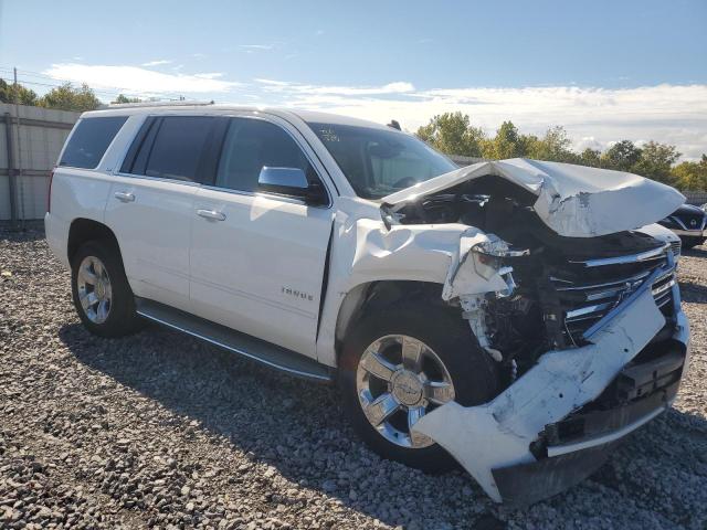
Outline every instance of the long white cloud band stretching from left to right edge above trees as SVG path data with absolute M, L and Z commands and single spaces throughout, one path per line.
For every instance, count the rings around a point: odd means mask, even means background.
M 399 120 L 415 130 L 437 114 L 468 114 L 493 135 L 507 119 L 523 132 L 542 135 L 562 125 L 576 149 L 605 149 L 612 142 L 653 139 L 677 146 L 685 159 L 707 151 L 707 85 L 656 85 L 635 88 L 544 86 L 521 88 L 450 87 L 416 89 L 410 82 L 378 86 L 317 85 L 256 78 L 224 80 L 220 72 L 184 74 L 137 66 L 53 64 L 45 74 L 57 81 L 134 95 L 198 94 L 220 102 L 312 108 L 370 119 Z

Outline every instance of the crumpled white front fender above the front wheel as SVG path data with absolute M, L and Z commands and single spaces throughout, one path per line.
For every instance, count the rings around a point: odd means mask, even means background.
M 376 215 L 378 220 L 371 219 Z M 469 250 L 479 243 L 498 241 L 478 229 L 450 223 L 397 225 L 389 230 L 377 206 L 359 200 L 340 200 L 334 231 L 330 283 L 317 341 L 317 357 L 329 365 L 336 365 L 336 330 L 342 329 L 339 308 L 347 309 L 346 318 L 352 310 L 350 304 L 345 304 L 347 295 L 355 294 L 363 284 L 383 280 L 440 284 L 444 285 L 445 300 L 461 293 L 508 289 L 507 280 L 498 272 L 483 277 L 474 268 Z

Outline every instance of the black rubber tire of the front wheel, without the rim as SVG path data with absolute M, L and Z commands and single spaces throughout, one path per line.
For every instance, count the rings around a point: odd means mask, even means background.
M 431 310 L 434 318 L 431 318 Z M 407 335 L 432 348 L 447 369 L 455 401 L 464 406 L 486 403 L 498 390 L 494 361 L 478 344 L 461 309 L 440 307 L 429 301 L 395 304 L 368 312 L 348 333 L 339 359 L 339 388 L 344 410 L 354 431 L 383 458 L 425 473 L 445 473 L 456 467 L 440 445 L 402 447 L 384 438 L 368 421 L 357 394 L 356 372 L 366 349 L 378 338 Z

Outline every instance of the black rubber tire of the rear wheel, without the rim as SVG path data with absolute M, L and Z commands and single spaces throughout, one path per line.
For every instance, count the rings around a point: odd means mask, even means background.
M 84 258 L 95 256 L 105 266 L 110 278 L 112 300 L 108 316 L 104 322 L 92 321 L 78 297 L 78 268 Z M 94 240 L 84 243 L 71 259 L 71 290 L 78 318 L 84 327 L 101 337 L 124 337 L 138 331 L 143 320 L 135 311 L 135 297 L 123 267 L 123 259 L 115 243 L 108 240 Z

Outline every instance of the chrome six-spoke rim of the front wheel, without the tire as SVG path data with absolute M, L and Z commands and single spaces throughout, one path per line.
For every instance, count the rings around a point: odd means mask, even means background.
M 437 354 L 405 335 L 388 335 L 370 344 L 356 371 L 356 391 L 370 424 L 401 447 L 429 447 L 434 442 L 413 433 L 412 425 L 454 399 L 452 378 Z

